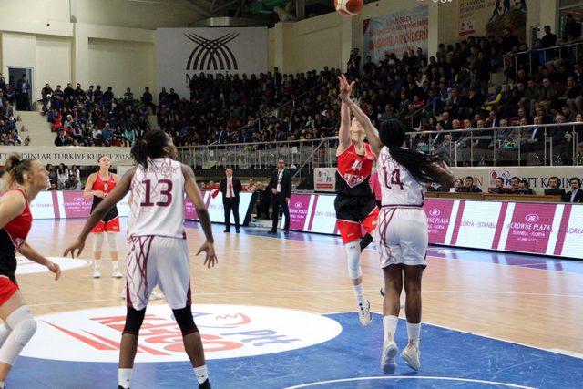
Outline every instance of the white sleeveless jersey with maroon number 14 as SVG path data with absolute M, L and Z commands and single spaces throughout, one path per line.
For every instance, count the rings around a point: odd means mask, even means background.
M 379 153 L 376 171 L 383 194 L 383 206 L 417 206 L 424 202 L 425 186 L 391 157 L 389 148 Z

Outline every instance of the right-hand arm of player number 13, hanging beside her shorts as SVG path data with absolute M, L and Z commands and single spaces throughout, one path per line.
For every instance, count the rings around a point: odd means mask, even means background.
M 199 186 L 194 178 L 194 172 L 192 169 L 189 166 L 182 164 L 182 174 L 184 175 L 184 191 L 189 200 L 192 201 L 194 208 L 197 210 L 199 223 L 204 231 L 204 236 L 207 238 L 207 241 L 200 247 L 197 255 L 199 255 L 200 252 L 205 251 L 207 257 L 204 260 L 204 264 L 207 265 L 207 267 L 214 266 L 219 260 L 215 254 L 209 210 L 207 210 L 204 200 L 200 195 Z

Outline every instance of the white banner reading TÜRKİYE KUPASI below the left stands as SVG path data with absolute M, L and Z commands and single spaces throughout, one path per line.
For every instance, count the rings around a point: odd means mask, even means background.
M 23 158 L 38 159 L 45 165 L 97 165 L 97 159 L 104 155 L 111 159 L 112 165 L 133 165 L 129 150 L 130 148 L 6 146 L 0 147 L 0 165 L 4 165 L 8 155 L 14 152 L 20 153 Z

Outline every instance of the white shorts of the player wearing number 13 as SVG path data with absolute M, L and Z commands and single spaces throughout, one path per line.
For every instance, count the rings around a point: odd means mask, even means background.
M 141 311 L 156 285 L 173 310 L 191 303 L 190 262 L 186 240 L 163 236 L 128 239 L 126 297 L 128 307 Z

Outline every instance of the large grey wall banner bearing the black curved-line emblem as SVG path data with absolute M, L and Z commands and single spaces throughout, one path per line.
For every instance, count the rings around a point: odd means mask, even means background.
M 158 85 L 190 97 L 192 77 L 205 74 L 266 73 L 266 27 L 159 28 L 156 30 Z

